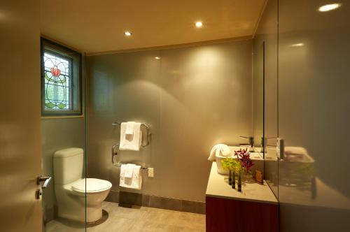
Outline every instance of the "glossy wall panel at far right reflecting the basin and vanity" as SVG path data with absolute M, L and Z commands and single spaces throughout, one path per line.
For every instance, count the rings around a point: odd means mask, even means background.
M 350 231 L 350 6 L 279 0 L 279 136 L 304 147 L 279 161 L 281 231 Z

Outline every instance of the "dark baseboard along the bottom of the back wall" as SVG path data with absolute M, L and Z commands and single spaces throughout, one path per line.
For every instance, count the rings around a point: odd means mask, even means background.
M 205 202 L 188 201 L 162 196 L 130 193 L 126 191 L 109 192 L 106 201 L 119 203 L 121 205 L 139 205 L 165 210 L 176 210 L 181 212 L 193 212 L 205 215 Z

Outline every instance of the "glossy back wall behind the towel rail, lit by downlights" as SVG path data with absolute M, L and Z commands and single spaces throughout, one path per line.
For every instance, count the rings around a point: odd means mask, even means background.
M 211 147 L 246 142 L 238 136 L 252 133 L 251 46 L 248 40 L 88 57 L 88 175 L 118 191 L 111 147 L 119 129 L 111 124 L 146 122 L 151 144 L 119 155 L 155 168 L 154 178 L 144 172 L 141 192 L 204 201 Z

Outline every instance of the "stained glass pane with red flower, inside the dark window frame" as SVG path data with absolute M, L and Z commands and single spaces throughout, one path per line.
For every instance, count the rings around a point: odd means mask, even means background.
M 71 108 L 71 61 L 44 52 L 45 109 Z

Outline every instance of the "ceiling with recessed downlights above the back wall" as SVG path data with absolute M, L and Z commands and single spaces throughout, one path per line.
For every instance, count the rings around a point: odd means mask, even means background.
M 265 0 L 41 0 L 41 34 L 90 54 L 239 38 L 254 34 L 264 6 Z

